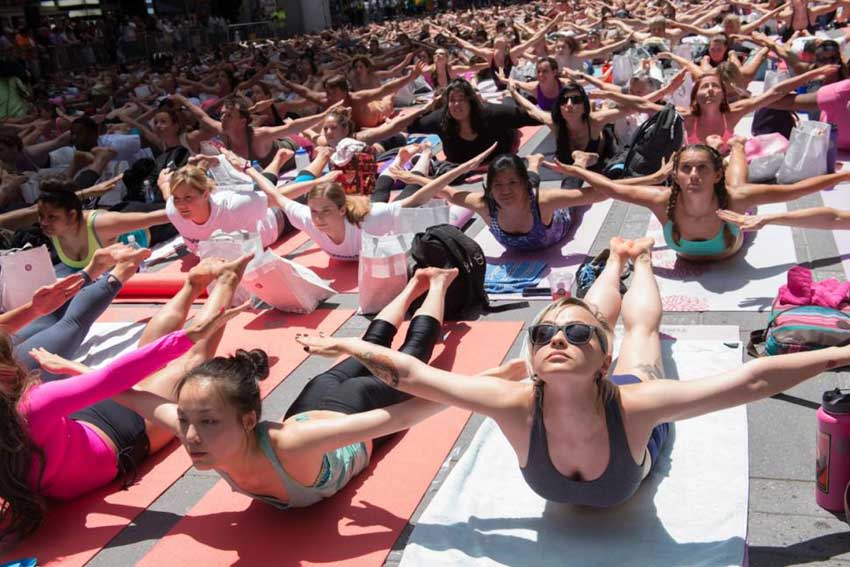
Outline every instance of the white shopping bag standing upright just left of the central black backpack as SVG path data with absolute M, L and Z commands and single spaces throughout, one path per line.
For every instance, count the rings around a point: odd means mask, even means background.
M 413 234 L 374 236 L 363 233 L 357 281 L 360 313 L 377 313 L 407 285 Z

